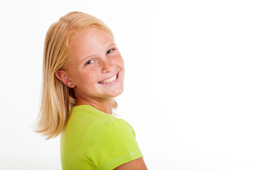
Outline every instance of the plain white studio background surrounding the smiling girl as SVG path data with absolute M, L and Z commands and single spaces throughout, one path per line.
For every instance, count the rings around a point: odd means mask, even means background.
M 32 131 L 49 26 L 104 21 L 125 61 L 117 113 L 148 169 L 256 169 L 255 1 L 6 1 L 1 17 L 0 169 L 61 169 L 60 138 Z

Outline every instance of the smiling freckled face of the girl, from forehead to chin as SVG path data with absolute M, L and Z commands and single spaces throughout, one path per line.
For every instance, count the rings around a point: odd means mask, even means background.
M 67 72 L 81 97 L 117 97 L 124 90 L 123 58 L 112 36 L 97 27 L 71 39 Z

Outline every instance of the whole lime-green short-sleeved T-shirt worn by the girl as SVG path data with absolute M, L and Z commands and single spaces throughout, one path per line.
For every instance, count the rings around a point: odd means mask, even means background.
M 114 115 L 80 105 L 61 135 L 62 169 L 114 169 L 143 157 L 131 125 Z

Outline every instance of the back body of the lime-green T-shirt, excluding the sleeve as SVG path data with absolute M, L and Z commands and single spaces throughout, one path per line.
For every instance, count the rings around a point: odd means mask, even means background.
M 95 143 L 97 135 L 107 127 L 109 122 L 119 120 L 114 115 L 108 115 L 97 109 L 83 105 L 74 107 L 68 120 L 65 130 L 61 134 L 61 159 L 64 166 L 79 164 L 84 166 L 86 162 L 91 162 L 90 152 Z M 77 164 L 77 165 L 78 165 Z M 80 169 L 80 168 L 72 168 Z

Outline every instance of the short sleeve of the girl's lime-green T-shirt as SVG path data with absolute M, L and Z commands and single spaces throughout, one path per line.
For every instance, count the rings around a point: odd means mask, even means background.
M 132 126 L 123 119 L 117 119 L 100 129 L 90 157 L 99 169 L 109 170 L 143 155 Z

